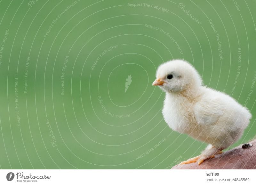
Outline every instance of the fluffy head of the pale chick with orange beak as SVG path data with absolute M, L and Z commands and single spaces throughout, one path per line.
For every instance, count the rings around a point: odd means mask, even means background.
M 172 60 L 161 64 L 156 71 L 157 85 L 165 92 L 181 92 L 197 89 L 202 80 L 195 68 L 184 60 Z

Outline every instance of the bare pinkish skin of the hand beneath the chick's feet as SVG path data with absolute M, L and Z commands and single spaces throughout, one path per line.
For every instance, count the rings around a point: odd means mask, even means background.
M 252 143 L 249 148 L 242 148 L 242 145 L 239 145 L 205 160 L 200 165 L 194 162 L 176 165 L 172 169 L 256 169 L 256 139 L 249 143 Z

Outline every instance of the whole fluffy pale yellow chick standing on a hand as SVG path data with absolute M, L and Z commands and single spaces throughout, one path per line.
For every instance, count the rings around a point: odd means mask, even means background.
M 234 98 L 203 86 L 200 75 L 187 61 L 161 64 L 152 85 L 166 93 L 162 113 L 169 127 L 209 144 L 199 156 L 180 164 L 200 165 L 222 153 L 241 138 L 252 117 Z

